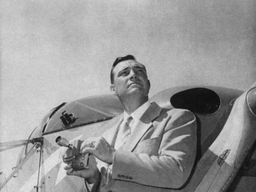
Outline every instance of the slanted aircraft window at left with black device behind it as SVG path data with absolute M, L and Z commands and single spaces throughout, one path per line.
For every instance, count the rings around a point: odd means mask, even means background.
M 99 95 L 62 103 L 42 122 L 42 134 L 110 119 L 122 113 L 120 101 L 113 95 Z

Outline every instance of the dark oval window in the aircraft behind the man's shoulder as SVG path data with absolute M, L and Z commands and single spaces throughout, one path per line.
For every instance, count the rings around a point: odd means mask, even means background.
M 187 109 L 194 113 L 209 115 L 218 111 L 221 99 L 212 90 L 194 88 L 176 93 L 170 98 L 170 103 L 175 108 Z

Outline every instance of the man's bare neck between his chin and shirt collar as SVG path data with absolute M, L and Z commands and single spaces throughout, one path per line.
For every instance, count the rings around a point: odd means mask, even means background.
M 136 99 L 120 99 L 124 111 L 131 115 L 135 110 L 137 110 L 142 104 L 148 101 L 148 97 L 136 98 Z

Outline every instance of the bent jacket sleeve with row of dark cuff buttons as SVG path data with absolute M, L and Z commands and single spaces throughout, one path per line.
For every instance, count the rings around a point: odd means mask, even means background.
M 165 188 L 186 182 L 196 157 L 196 117 L 180 110 L 164 121 L 158 156 L 117 151 L 112 179 Z

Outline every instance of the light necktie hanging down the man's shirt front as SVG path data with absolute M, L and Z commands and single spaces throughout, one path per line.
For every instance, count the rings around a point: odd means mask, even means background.
M 115 148 L 118 150 L 126 141 L 130 138 L 131 135 L 131 126 L 132 126 L 133 117 L 129 116 L 126 120 L 121 123 L 119 127 L 118 137 L 116 139 Z

